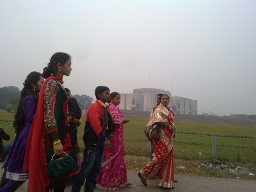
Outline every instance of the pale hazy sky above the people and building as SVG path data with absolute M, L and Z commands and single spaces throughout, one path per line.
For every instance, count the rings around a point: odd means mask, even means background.
M 72 94 L 160 88 L 198 113 L 256 114 L 255 19 L 254 0 L 0 0 L 0 87 L 21 89 L 61 51 Z

